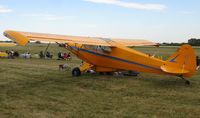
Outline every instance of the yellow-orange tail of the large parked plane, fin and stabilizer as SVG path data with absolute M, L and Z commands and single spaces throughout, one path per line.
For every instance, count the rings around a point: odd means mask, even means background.
M 164 72 L 191 77 L 196 73 L 197 60 L 192 46 L 181 46 L 166 62 L 161 69 Z

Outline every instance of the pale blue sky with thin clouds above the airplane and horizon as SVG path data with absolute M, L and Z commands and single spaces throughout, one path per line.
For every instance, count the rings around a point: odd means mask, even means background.
M 200 38 L 200 0 L 0 0 L 6 29 L 186 42 Z

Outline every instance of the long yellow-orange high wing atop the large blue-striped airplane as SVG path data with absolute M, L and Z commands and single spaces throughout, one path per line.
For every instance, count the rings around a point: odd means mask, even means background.
M 57 43 L 77 43 L 85 45 L 101 45 L 101 46 L 113 46 L 108 41 L 114 41 L 125 46 L 145 46 L 156 45 L 156 43 L 146 40 L 126 40 L 126 39 L 109 39 L 98 37 L 81 37 L 81 36 L 67 36 L 45 33 L 32 33 L 7 30 L 4 32 L 4 36 L 14 40 L 20 45 L 26 45 L 29 41 L 44 41 L 44 42 L 57 42 Z

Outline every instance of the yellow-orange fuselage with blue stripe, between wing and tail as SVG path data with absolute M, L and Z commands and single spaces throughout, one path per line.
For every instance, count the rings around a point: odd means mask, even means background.
M 122 45 L 111 47 L 110 52 L 75 44 L 68 44 L 68 49 L 83 61 L 94 65 L 98 72 L 133 70 L 164 74 L 160 69 L 163 60 Z

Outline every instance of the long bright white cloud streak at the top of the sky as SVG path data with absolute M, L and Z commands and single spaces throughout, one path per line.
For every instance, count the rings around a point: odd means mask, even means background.
M 111 4 L 125 8 L 141 9 L 141 10 L 156 10 L 161 11 L 167 7 L 163 4 L 142 4 L 134 2 L 124 2 L 122 0 L 83 0 L 86 2 L 101 3 L 101 4 Z

